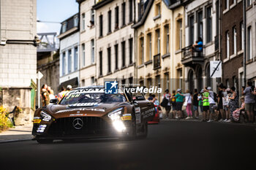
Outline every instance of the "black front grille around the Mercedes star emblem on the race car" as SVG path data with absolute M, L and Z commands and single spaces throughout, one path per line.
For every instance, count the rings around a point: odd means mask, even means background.
M 83 127 L 76 129 L 73 122 L 78 118 L 83 120 Z M 48 133 L 54 136 L 108 134 L 110 128 L 111 126 L 100 117 L 65 117 L 56 119 L 50 125 Z

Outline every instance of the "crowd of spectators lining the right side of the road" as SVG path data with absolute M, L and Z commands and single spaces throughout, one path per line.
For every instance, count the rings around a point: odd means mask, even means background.
M 238 96 L 235 87 L 227 88 L 222 83 L 218 85 L 217 92 L 211 87 L 206 87 L 200 91 L 195 89 L 193 92 L 186 90 L 182 93 L 178 88 L 170 94 L 166 89 L 159 106 L 165 119 L 255 123 L 256 88 L 251 81 L 248 81 L 241 92 Z M 199 113 L 202 116 L 199 117 Z

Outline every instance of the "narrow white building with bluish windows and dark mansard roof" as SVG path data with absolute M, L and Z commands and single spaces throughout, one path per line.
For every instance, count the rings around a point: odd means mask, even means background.
M 61 23 L 61 31 L 59 36 L 59 83 L 60 86 L 67 88 L 67 85 L 72 85 L 72 88 L 78 87 L 80 77 L 80 58 L 79 58 L 79 15 L 75 14 L 72 17 L 64 20 Z

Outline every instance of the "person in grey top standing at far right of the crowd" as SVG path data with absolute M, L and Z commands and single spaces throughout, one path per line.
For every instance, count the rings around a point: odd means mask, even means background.
M 248 115 L 249 123 L 253 122 L 254 109 L 255 109 L 255 96 L 253 94 L 254 89 L 252 89 L 252 82 L 247 82 L 247 87 L 244 89 L 242 95 L 245 96 L 245 112 Z

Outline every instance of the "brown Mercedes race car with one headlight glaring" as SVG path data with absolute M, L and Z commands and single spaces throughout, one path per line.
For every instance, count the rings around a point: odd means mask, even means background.
M 154 104 L 143 93 L 105 93 L 101 86 L 75 88 L 58 103 L 34 112 L 32 135 L 39 143 L 54 139 L 135 138 L 148 134 Z

